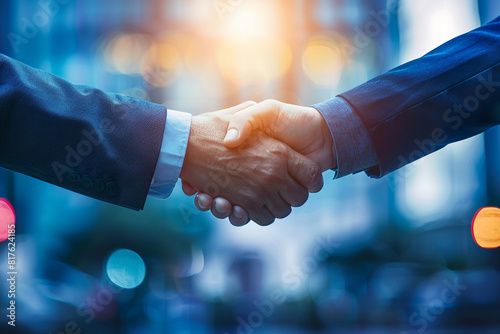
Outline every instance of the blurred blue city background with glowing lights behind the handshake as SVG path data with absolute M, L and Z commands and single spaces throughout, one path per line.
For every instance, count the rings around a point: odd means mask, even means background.
M 500 14 L 494 0 L 0 8 L 1 53 L 193 115 L 323 101 Z M 491 129 L 380 180 L 327 172 L 320 193 L 265 228 L 200 213 L 180 187 L 134 212 L 0 170 L 18 271 L 12 328 L 1 243 L 0 332 L 498 333 L 500 251 L 479 248 L 470 225 L 500 206 L 499 140 Z

